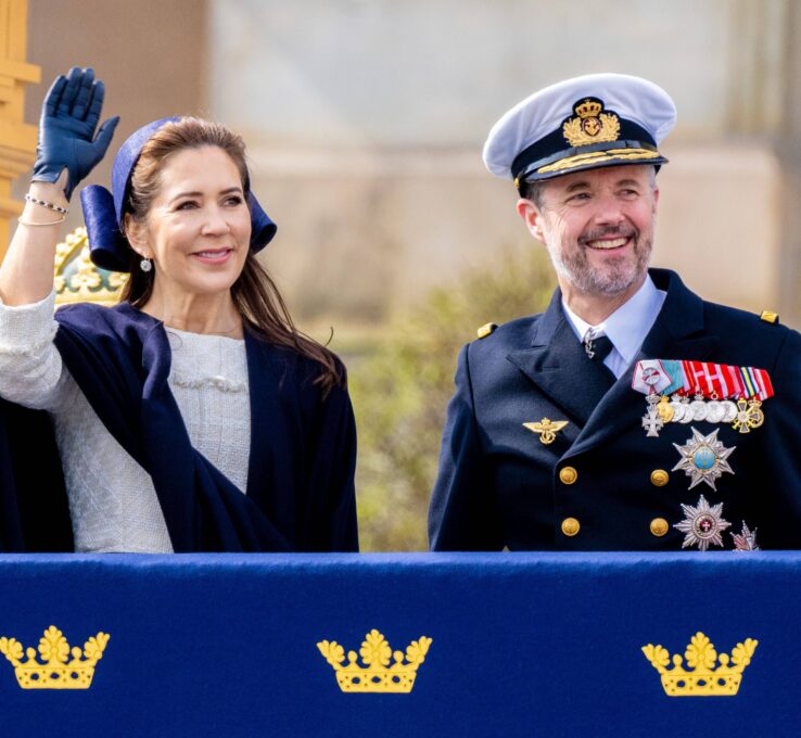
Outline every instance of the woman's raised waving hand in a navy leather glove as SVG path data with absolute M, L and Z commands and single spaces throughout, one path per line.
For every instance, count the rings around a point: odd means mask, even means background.
M 119 116 L 109 118 L 94 135 L 104 97 L 93 69 L 74 66 L 66 77 L 56 77 L 41 109 L 34 181 L 54 182 L 66 168 L 64 194 L 69 200 L 77 183 L 103 158 L 119 122 Z

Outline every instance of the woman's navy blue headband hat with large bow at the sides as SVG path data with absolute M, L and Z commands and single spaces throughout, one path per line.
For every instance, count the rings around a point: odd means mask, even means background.
M 134 171 L 142 148 L 162 126 L 180 118 L 153 120 L 125 141 L 114 157 L 112 166 L 112 191 L 100 184 L 90 184 L 80 191 L 84 221 L 89 236 L 91 258 L 101 269 L 130 271 L 131 247 L 123 236 L 123 206 L 130 187 Z M 247 192 L 247 206 L 251 211 L 251 250 L 262 251 L 276 234 L 277 226 L 262 209 L 252 192 Z

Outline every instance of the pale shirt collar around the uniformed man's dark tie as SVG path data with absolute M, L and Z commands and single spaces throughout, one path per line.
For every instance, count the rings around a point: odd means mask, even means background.
M 593 329 L 596 335 L 608 335 L 612 345 L 628 364 L 634 359 L 657 320 L 666 294 L 663 290 L 657 289 L 650 275 L 646 275 L 639 290 L 598 326 L 592 326 L 580 318 L 568 307 L 564 298 L 562 309 L 580 341 L 584 340 L 589 329 Z

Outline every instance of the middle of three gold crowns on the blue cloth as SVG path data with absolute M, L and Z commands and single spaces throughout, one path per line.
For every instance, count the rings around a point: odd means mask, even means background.
M 345 692 L 410 692 L 415 686 L 418 666 L 425 660 L 431 646 L 431 638 L 420 636 L 412 640 L 406 649 L 406 662 L 403 651 L 392 652 L 390 644 L 376 628 L 365 636 L 359 649 L 365 666 L 357 663 L 355 651 L 347 652 L 335 640 L 321 640 L 317 644 L 323 658 L 336 672 L 336 683 Z M 394 663 L 390 665 L 390 657 Z

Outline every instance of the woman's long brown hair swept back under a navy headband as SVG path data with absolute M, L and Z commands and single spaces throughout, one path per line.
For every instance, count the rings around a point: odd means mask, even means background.
M 219 123 L 194 117 L 178 118 L 162 126 L 142 148 L 123 206 L 124 233 L 129 218 L 138 222 L 147 220 L 161 186 L 161 171 L 170 155 L 201 147 L 217 147 L 231 157 L 239 169 L 242 189 L 247 194 L 251 178 L 242 137 Z M 153 293 L 155 270 L 142 271 L 139 268 L 140 256 L 132 249 L 130 258 L 130 279 L 123 289 L 120 300 L 141 307 Z M 320 374 L 315 383 L 321 385 L 325 394 L 334 386 L 345 386 L 342 362 L 328 348 L 295 328 L 276 283 L 252 251 L 247 253 L 242 273 L 231 285 L 231 296 L 246 330 L 320 365 Z

